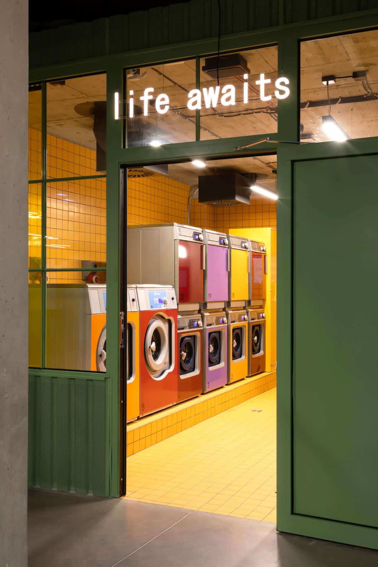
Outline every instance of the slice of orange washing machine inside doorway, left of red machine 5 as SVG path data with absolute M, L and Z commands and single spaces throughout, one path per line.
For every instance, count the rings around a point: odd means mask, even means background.
M 126 323 L 126 421 L 139 417 L 139 304 L 137 289 L 128 286 Z

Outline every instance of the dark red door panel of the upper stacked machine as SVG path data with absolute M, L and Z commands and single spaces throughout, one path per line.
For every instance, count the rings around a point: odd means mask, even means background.
M 203 244 L 179 240 L 179 302 L 203 301 Z

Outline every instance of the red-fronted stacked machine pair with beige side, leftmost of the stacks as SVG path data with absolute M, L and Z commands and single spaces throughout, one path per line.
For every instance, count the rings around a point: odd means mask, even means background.
M 177 299 L 175 401 L 198 396 L 203 388 L 203 230 L 177 223 L 145 225 L 128 228 L 127 236 L 128 282 L 169 285 Z

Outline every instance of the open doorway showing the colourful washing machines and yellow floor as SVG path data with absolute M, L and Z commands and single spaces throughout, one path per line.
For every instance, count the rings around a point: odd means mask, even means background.
M 275 522 L 277 158 L 127 179 L 125 497 Z

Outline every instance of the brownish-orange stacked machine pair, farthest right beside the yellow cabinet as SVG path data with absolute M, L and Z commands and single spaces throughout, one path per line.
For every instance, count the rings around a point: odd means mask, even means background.
M 248 315 L 248 375 L 265 371 L 267 257 L 264 244 L 250 241 L 251 295 Z

